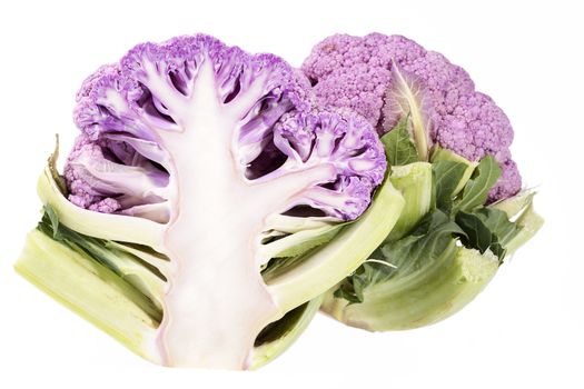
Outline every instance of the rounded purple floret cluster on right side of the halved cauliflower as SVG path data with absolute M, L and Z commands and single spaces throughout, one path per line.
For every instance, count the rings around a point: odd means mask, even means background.
M 307 205 L 343 220 L 354 220 L 367 209 L 387 168 L 375 128 L 348 110 L 287 117 L 276 127 L 274 143 L 300 166 L 335 166 L 335 179 L 308 189 L 293 206 Z

